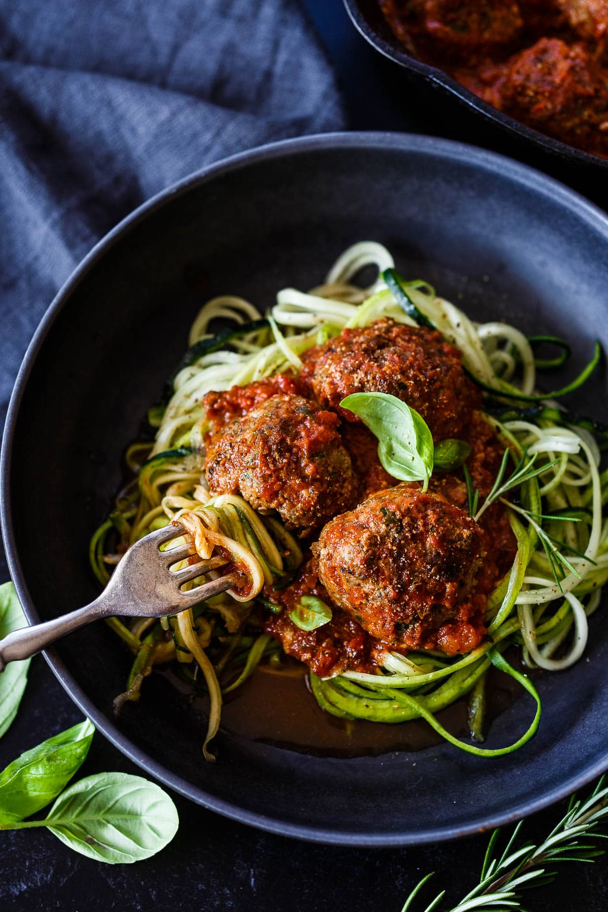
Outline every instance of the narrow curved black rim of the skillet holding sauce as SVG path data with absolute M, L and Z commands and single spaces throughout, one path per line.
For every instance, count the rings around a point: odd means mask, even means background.
M 462 86 L 455 78 L 444 72 L 444 70 L 439 69 L 438 67 L 432 67 L 422 60 L 417 60 L 416 57 L 411 57 L 407 54 L 405 48 L 399 45 L 397 38 L 395 38 L 394 41 L 388 40 L 380 35 L 374 26 L 369 24 L 365 13 L 361 9 L 359 0 L 343 0 L 343 3 L 345 5 L 346 13 L 359 34 L 362 35 L 376 51 L 389 60 L 392 60 L 394 63 L 397 63 L 400 67 L 411 70 L 428 82 L 443 88 L 450 95 L 458 98 L 460 102 L 467 104 L 469 108 L 474 109 L 483 117 L 498 124 L 502 129 L 509 130 L 518 137 L 523 137 L 537 147 L 541 146 L 551 155 L 561 158 L 562 161 L 568 161 L 571 165 L 572 161 L 576 161 L 577 164 L 586 167 L 592 165 L 595 168 L 601 168 L 603 170 L 608 168 L 608 158 L 604 159 L 601 155 L 594 155 L 593 152 L 585 152 L 582 149 L 577 149 L 576 146 L 571 146 L 562 140 L 556 140 L 552 136 L 541 133 L 540 130 L 534 130 L 533 127 L 529 127 L 521 120 L 510 117 L 509 114 L 503 113 L 498 108 L 494 108 L 487 101 L 479 98 L 479 96 L 474 95 L 473 92 Z

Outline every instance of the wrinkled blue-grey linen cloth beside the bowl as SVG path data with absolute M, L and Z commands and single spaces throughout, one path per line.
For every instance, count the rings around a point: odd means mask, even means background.
M 5 0 L 0 428 L 46 306 L 113 225 L 212 161 L 343 126 L 297 0 Z

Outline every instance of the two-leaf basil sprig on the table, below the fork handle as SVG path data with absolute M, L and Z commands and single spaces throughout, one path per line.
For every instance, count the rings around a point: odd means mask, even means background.
M 81 855 L 109 865 L 155 855 L 177 832 L 170 796 L 125 772 L 99 772 L 61 792 L 87 756 L 88 721 L 26 751 L 0 774 L 0 830 L 46 826 Z M 44 820 L 24 820 L 59 794 Z

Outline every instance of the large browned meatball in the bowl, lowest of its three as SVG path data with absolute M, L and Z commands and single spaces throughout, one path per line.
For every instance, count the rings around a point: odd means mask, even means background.
M 391 647 L 467 652 L 485 633 L 484 533 L 439 492 L 376 492 L 327 523 L 313 551 L 334 604 Z

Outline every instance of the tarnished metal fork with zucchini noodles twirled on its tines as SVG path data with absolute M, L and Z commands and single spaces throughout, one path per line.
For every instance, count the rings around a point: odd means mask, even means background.
M 210 560 L 199 561 L 181 570 L 170 570 L 171 565 L 196 554 L 191 543 L 160 551 L 161 544 L 168 544 L 171 539 L 182 534 L 184 530 L 178 523 L 149 533 L 131 545 L 129 551 L 121 557 L 110 576 L 108 586 L 90 605 L 45 621 L 44 624 L 22 627 L 9 633 L 0 640 L 0 672 L 5 670 L 8 662 L 34 656 L 60 637 L 66 637 L 68 633 L 73 633 L 91 621 L 115 615 L 176 615 L 206 598 L 225 592 L 238 582 L 240 574 L 232 573 L 184 592 L 180 588 L 184 583 L 226 565 L 228 558 L 211 557 Z

